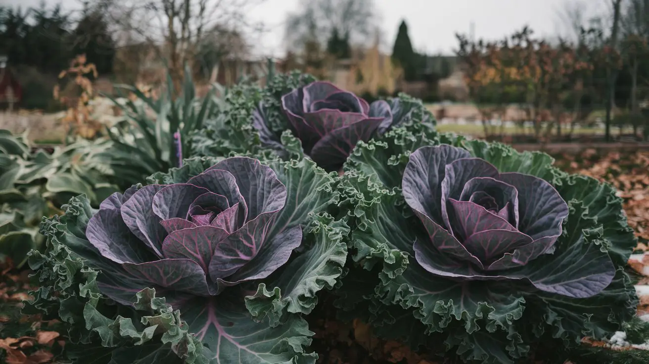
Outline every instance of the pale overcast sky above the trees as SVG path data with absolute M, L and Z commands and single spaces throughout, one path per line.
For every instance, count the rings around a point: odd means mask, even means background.
M 302 1 L 308 0 L 265 0 L 252 10 L 251 20 L 263 21 L 267 29 L 262 36 L 254 38 L 255 54 L 280 56 L 284 53 L 286 14 L 298 9 Z M 579 0 L 374 0 L 374 3 L 381 15 L 384 45 L 391 48 L 401 19 L 406 19 L 417 51 L 450 55 L 458 44 L 454 34 L 468 34 L 471 22 L 476 38 L 489 40 L 500 39 L 523 25 L 530 25 L 540 36 L 565 33 L 567 28 L 559 14 L 567 3 L 574 1 Z M 48 5 L 58 2 L 46 1 Z M 35 6 L 40 0 L 0 0 L 0 3 Z M 62 0 L 62 3 L 67 8 L 79 7 L 78 0 Z M 585 3 L 594 12 L 601 8 L 603 0 L 585 0 Z

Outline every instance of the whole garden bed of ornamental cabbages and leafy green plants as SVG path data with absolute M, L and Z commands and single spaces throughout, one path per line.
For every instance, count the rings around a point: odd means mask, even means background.
M 299 73 L 129 90 L 110 140 L 0 133 L 0 360 L 648 358 L 647 152 L 553 165 Z

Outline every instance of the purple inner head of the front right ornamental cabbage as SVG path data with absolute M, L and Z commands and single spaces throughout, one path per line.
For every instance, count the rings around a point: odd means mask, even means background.
M 430 237 L 413 247 L 430 273 L 460 280 L 526 278 L 538 289 L 570 297 L 592 296 L 613 278 L 612 265 L 602 267 L 589 287 L 557 288 L 526 276 L 522 267 L 553 252 L 569 213 L 541 178 L 499 173 L 464 149 L 440 145 L 411 154 L 402 189 Z

